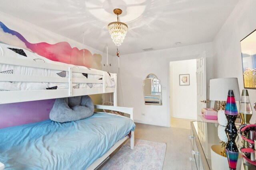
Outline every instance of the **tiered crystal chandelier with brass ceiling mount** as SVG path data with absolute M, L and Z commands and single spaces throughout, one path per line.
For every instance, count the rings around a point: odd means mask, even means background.
M 122 10 L 114 9 L 114 14 L 117 15 L 117 22 L 111 22 L 108 24 L 108 31 L 116 46 L 120 46 L 128 31 L 128 26 L 125 23 L 118 22 L 118 15 L 122 14 Z

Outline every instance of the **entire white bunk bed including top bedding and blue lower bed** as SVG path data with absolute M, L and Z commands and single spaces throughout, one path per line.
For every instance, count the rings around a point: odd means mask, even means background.
M 37 164 L 34 164 L 36 159 L 32 159 L 34 153 L 32 155 L 25 154 L 26 150 L 20 147 L 20 141 L 25 141 L 24 148 L 30 151 L 34 149 L 37 156 L 45 158 L 45 160 L 42 158 L 42 162 L 38 163 L 44 169 L 70 169 L 70 167 L 79 166 L 81 169 L 94 170 L 107 160 L 109 155 L 129 137 L 130 148 L 134 148 L 133 108 L 117 106 L 116 74 L 84 66 L 53 62 L 26 49 L 2 43 L 0 43 L 0 69 L 0 104 L 113 93 L 114 106 L 94 105 L 95 109 L 115 110 L 130 115 L 127 118 L 110 113 L 95 112 L 89 118 L 68 123 L 57 123 L 48 120 L 0 129 L 2 142 L 8 144 L 0 145 L 0 169 L 4 167 L 2 163 L 12 167 L 11 159 L 15 159 L 12 161 L 16 162 L 13 167 L 22 166 L 26 169 L 25 167 L 29 166 L 30 169 L 38 169 Z M 110 117 L 110 122 L 106 121 L 108 117 Z M 114 130 L 107 128 L 107 126 L 111 127 L 110 125 Z M 118 125 L 121 127 L 118 127 Z M 89 127 L 92 127 L 92 129 Z M 97 131 L 100 132 L 93 132 L 96 131 L 96 127 L 99 127 Z M 69 131 L 66 131 L 67 129 Z M 122 129 L 122 131 L 119 129 Z M 78 133 L 74 137 L 71 132 L 77 131 Z M 42 132 L 42 135 L 40 132 Z M 16 133 L 19 133 L 19 135 L 15 136 Z M 23 133 L 24 135 L 22 135 Z M 89 133 L 92 138 L 88 136 L 82 138 L 85 133 Z M 96 137 L 99 140 L 97 145 L 102 149 L 96 147 L 96 150 L 91 150 L 88 154 L 85 150 L 90 148 L 88 145 L 90 146 L 91 143 L 96 141 L 96 138 L 93 138 L 95 133 L 102 134 L 102 136 Z M 60 138 L 56 139 L 55 135 L 60 136 Z M 26 136 L 31 138 L 27 139 Z M 13 138 L 18 139 L 14 140 Z M 71 138 L 74 138 L 74 140 Z M 110 138 L 113 140 L 109 141 Z M 56 145 L 53 145 L 54 140 L 60 143 L 57 142 Z M 8 143 L 9 141 L 10 143 Z M 33 145 L 30 143 L 32 141 L 34 141 Z M 72 144 L 67 145 L 65 141 L 70 141 Z M 57 147 L 58 144 L 61 147 Z M 51 145 L 55 146 L 54 148 L 57 148 L 57 150 L 52 150 Z M 76 146 L 79 147 L 76 148 Z M 71 152 L 66 151 L 70 148 L 73 149 Z M 54 152 L 57 152 L 57 154 L 54 154 Z M 46 153 L 51 154 L 49 156 Z M 89 158 L 90 154 L 92 154 L 92 158 Z M 15 158 L 10 158 L 10 155 Z M 72 155 L 80 157 L 73 157 Z M 52 160 L 50 161 L 50 159 Z M 30 161 L 30 163 L 26 161 Z

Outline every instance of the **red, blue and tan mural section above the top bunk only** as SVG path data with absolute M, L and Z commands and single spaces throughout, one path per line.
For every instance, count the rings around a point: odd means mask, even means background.
M 67 64 L 82 65 L 90 68 L 102 69 L 101 60 L 102 56 L 94 54 L 87 49 L 72 48 L 68 42 L 60 42 L 56 44 L 30 43 L 20 33 L 9 29 L 0 21 L 0 41 L 28 49 L 50 59 L 52 61 L 59 61 Z M 6 35 L 5 35 L 6 34 Z M 18 39 L 17 39 L 18 38 Z M 17 42 L 21 41 L 21 42 Z

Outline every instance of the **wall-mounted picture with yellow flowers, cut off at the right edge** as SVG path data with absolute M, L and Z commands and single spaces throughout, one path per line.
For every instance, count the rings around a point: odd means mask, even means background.
M 240 41 L 244 88 L 256 89 L 256 30 Z

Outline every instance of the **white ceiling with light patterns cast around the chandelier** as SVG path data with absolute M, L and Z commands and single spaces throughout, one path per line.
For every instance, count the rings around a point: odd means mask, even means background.
M 116 47 L 107 30 L 116 21 L 128 33 L 120 54 L 211 42 L 239 0 L 2 0 L 0 11 L 111 55 Z M 18 31 L 18 30 L 16 30 Z

